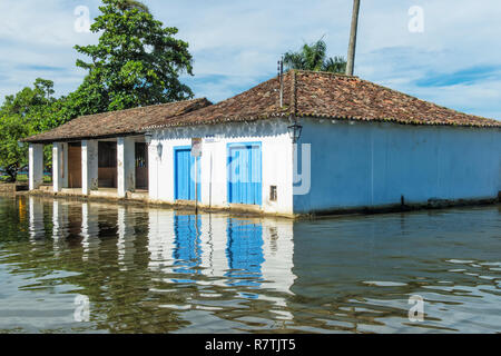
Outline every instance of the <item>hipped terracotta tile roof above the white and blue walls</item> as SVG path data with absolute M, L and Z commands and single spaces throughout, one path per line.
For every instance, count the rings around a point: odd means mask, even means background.
M 160 119 L 145 126 L 145 130 L 289 115 L 407 125 L 501 127 L 501 121 L 440 107 L 357 77 L 294 70 L 284 75 L 283 108 L 279 107 L 279 80 L 273 78 L 219 103 Z

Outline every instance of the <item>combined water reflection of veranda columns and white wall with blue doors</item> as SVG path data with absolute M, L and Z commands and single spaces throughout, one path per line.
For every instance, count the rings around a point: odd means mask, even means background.
M 29 197 L 29 233 L 32 240 L 46 236 L 45 199 Z M 46 201 L 47 202 L 47 201 Z M 46 204 L 47 206 L 48 204 Z M 147 216 L 148 268 L 168 273 L 171 281 L 210 277 L 219 286 L 267 287 L 289 293 L 294 283 L 293 221 L 242 220 L 223 215 L 181 215 L 164 209 L 136 209 L 99 202 L 52 201 L 51 237 L 78 238 L 84 260 L 99 254 L 108 238 L 116 239 L 118 264 L 135 267 L 137 234 L 134 210 Z M 262 284 L 265 281 L 265 285 Z

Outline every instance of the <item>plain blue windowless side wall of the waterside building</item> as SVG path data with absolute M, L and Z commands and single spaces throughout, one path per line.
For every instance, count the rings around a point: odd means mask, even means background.
M 303 119 L 312 181 L 294 212 L 495 198 L 501 130 Z

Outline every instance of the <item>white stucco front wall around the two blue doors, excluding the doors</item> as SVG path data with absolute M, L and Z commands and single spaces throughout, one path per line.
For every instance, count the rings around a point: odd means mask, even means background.
M 207 139 L 209 136 L 214 136 L 214 139 Z M 292 214 L 292 141 L 287 134 L 287 122 L 282 120 L 154 131 L 148 152 L 150 199 L 174 202 L 174 148 L 190 146 L 194 137 L 204 138 L 200 158 L 202 205 L 228 207 L 227 145 L 258 141 L 262 144 L 263 160 L 262 210 Z M 158 156 L 158 144 L 163 147 L 161 157 Z M 271 186 L 277 186 L 277 201 L 269 201 Z

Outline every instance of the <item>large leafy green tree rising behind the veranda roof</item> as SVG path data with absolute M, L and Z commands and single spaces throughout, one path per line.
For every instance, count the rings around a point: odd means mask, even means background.
M 164 27 L 138 1 L 102 2 L 101 14 L 91 26 L 92 32 L 100 33 L 99 43 L 75 47 L 91 61 L 77 61 L 88 75 L 66 98 L 66 113 L 71 117 L 191 98 L 179 76 L 193 76 L 193 58 L 188 43 L 174 37 L 177 28 Z

